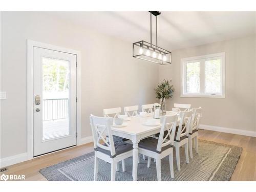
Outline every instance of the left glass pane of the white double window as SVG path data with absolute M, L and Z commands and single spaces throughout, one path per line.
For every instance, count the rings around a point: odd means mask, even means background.
M 200 92 L 200 62 L 188 62 L 186 64 L 187 93 Z

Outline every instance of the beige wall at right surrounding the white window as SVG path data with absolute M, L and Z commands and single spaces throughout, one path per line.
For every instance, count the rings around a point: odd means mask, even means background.
M 226 98 L 181 98 L 181 58 L 220 52 L 226 52 Z M 174 103 L 191 103 L 193 108 L 203 108 L 201 124 L 256 131 L 255 36 L 175 50 L 172 54 L 172 65 L 159 68 L 159 81 L 172 79 L 176 88 L 174 97 L 168 100 L 169 110 Z

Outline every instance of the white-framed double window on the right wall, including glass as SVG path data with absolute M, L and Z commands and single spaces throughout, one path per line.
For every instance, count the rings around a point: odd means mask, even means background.
M 181 97 L 225 98 L 225 52 L 181 59 Z

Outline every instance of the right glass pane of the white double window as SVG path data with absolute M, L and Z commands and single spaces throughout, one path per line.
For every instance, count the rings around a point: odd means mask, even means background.
M 221 93 L 221 59 L 205 61 L 205 93 Z

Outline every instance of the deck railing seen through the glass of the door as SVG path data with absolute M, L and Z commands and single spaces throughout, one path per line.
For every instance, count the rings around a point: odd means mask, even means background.
M 69 99 L 43 99 L 42 120 L 69 118 Z

